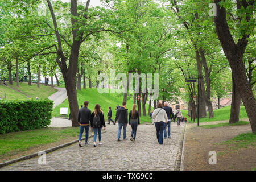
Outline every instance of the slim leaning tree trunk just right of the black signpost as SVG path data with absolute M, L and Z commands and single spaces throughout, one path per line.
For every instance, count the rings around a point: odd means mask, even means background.
M 208 69 L 207 61 L 205 59 L 205 52 L 201 47 L 200 47 L 200 55 L 204 65 L 204 73 L 205 73 L 205 83 L 206 83 L 205 103 L 207 104 L 207 107 L 208 107 L 209 118 L 214 118 L 212 102 L 210 101 L 210 71 Z

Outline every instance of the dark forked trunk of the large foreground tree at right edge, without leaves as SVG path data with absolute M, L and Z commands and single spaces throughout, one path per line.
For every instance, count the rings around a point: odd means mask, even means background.
M 248 44 L 247 38 L 249 38 L 249 34 L 242 35 L 242 38 L 238 40 L 237 44 L 234 43 L 233 36 L 226 22 L 226 9 L 220 7 L 218 4 L 220 1 L 221 0 L 214 0 L 214 3 L 217 5 L 217 16 L 214 18 L 216 32 L 225 56 L 229 61 L 232 73 L 234 73 L 234 83 L 245 105 L 245 110 L 251 124 L 251 130 L 253 133 L 256 133 L 256 101 L 249 81 L 247 80 L 245 64 L 243 63 L 243 53 Z M 241 9 L 241 3 L 245 3 L 243 7 L 246 9 L 247 1 L 237 1 L 237 9 Z M 247 20 L 250 20 L 250 16 L 246 14 L 246 21 Z

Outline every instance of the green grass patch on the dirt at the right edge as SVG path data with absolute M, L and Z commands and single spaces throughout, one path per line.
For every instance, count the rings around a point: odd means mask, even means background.
M 220 144 L 225 144 L 232 147 L 234 150 L 237 148 L 247 148 L 249 146 L 256 145 L 256 134 L 253 133 L 243 133 L 237 135 L 236 137 L 232 138 L 231 140 L 222 142 Z

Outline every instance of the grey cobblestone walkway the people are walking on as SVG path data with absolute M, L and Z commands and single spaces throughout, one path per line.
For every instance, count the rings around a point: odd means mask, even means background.
M 174 170 L 182 138 L 184 123 L 171 123 L 171 139 L 159 145 L 154 125 L 138 126 L 137 139 L 117 141 L 118 125 L 107 125 L 102 134 L 102 145 L 80 148 L 78 144 L 46 154 L 46 164 L 38 164 L 38 157 L 23 160 L 0 170 Z M 127 126 L 127 137 L 131 127 Z M 97 139 L 98 140 L 98 139 Z M 82 141 L 84 143 L 84 141 Z

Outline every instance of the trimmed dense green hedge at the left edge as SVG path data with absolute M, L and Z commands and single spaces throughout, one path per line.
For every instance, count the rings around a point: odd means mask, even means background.
M 33 130 L 51 123 L 53 101 L 0 100 L 0 134 Z

